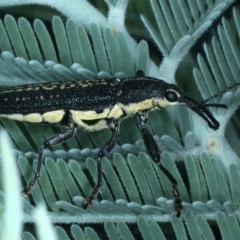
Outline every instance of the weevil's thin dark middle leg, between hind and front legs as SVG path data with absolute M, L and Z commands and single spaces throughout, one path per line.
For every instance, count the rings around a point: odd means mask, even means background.
M 112 126 L 111 126 L 112 125 Z M 92 204 L 92 200 L 98 194 L 98 191 L 102 185 L 102 165 L 101 160 L 104 156 L 106 156 L 115 146 L 119 137 L 119 123 L 115 122 L 110 125 L 111 129 L 113 129 L 112 137 L 109 139 L 107 143 L 100 149 L 98 152 L 98 159 L 97 159 L 97 184 L 93 188 L 91 194 L 88 198 L 85 199 L 83 203 L 83 207 L 87 208 L 88 205 Z

